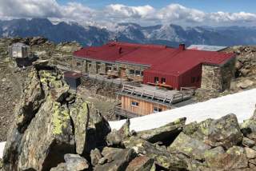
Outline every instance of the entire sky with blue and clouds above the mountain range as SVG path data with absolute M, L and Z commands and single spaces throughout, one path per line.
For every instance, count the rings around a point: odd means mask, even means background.
M 54 22 L 113 27 L 256 26 L 256 0 L 0 0 L 0 18 L 49 18 Z

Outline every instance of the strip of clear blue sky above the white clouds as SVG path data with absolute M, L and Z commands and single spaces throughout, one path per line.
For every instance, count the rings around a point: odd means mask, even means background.
M 226 12 L 256 12 L 255 0 L 58 0 L 58 2 L 62 4 L 66 4 L 66 2 L 80 2 L 85 6 L 97 9 L 101 9 L 110 4 L 123 4 L 126 6 L 150 5 L 156 9 L 160 9 L 171 3 L 178 3 L 182 6 L 203 10 L 205 12 L 217 12 L 220 10 Z

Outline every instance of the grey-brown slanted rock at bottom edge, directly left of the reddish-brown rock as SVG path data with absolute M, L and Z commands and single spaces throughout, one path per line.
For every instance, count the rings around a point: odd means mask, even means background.
M 104 165 L 96 165 L 95 171 L 105 171 L 105 170 L 126 170 L 126 167 L 129 165 L 130 161 L 132 161 L 135 157 L 137 157 L 134 149 L 122 149 L 117 153 L 108 154 L 108 161 Z M 104 156 L 106 157 L 106 156 Z

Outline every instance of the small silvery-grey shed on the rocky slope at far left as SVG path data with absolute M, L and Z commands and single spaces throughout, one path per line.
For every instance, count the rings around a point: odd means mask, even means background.
M 12 58 L 29 58 L 30 57 L 30 46 L 24 43 L 14 43 L 9 46 L 9 54 Z

